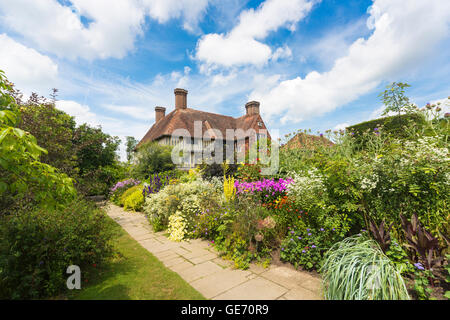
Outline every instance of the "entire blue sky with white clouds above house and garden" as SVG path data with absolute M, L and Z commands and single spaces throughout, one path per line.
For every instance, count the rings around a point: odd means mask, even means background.
M 57 88 L 59 109 L 122 141 L 178 87 L 233 117 L 259 101 L 281 136 L 377 118 L 394 81 L 419 107 L 442 101 L 449 40 L 449 0 L 0 0 L 8 79 L 25 96 Z

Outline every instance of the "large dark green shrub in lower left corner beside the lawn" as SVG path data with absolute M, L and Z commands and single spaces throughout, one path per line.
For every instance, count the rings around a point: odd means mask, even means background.
M 113 252 L 112 221 L 77 199 L 64 209 L 36 209 L 0 219 L 0 298 L 37 299 L 66 288 L 66 269 L 100 264 Z

